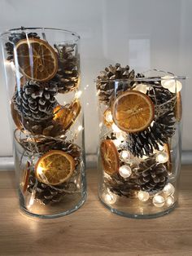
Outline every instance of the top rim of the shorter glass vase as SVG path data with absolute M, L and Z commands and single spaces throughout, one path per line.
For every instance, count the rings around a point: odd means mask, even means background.
M 159 81 L 168 81 L 168 80 L 185 80 L 186 76 L 166 76 L 166 77 L 137 77 L 133 79 L 129 78 L 119 78 L 119 79 L 94 79 L 94 82 L 159 82 Z

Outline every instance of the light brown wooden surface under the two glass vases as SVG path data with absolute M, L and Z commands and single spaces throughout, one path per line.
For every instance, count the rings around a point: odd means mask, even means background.
M 0 172 L 0 255 L 192 255 L 192 166 L 181 171 L 180 206 L 161 218 L 120 217 L 97 197 L 97 170 L 88 170 L 88 200 L 63 218 L 20 214 L 14 173 Z

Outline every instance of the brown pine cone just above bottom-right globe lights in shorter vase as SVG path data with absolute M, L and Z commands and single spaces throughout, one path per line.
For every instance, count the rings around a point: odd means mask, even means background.
M 139 166 L 133 169 L 136 183 L 147 192 L 159 192 L 168 182 L 168 170 L 164 164 L 159 164 L 153 158 L 141 161 Z

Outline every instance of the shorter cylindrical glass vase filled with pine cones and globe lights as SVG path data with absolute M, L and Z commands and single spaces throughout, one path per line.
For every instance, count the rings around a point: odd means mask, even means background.
M 184 83 L 163 72 L 135 77 L 119 64 L 98 77 L 98 196 L 111 212 L 155 218 L 177 205 Z

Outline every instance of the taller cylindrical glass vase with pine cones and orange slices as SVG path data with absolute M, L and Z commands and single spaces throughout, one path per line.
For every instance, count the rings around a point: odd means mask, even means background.
M 40 218 L 86 197 L 79 39 L 46 28 L 1 35 L 20 208 Z

